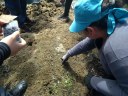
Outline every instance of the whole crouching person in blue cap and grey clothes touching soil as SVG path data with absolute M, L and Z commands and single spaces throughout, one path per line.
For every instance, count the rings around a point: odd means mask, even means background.
M 78 0 L 69 30 L 86 38 L 62 57 L 65 64 L 70 57 L 97 48 L 109 78 L 90 76 L 86 84 L 101 96 L 128 96 L 128 11 L 115 7 L 115 0 Z

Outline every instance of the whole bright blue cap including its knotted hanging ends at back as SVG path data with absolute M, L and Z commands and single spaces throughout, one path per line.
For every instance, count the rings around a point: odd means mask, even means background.
M 102 12 L 102 3 L 103 0 L 78 0 L 74 8 L 75 19 L 69 28 L 70 32 L 81 32 L 91 23 L 108 15 L 107 33 L 110 35 L 114 32 L 116 21 L 125 23 L 128 20 L 126 9 L 109 7 Z M 114 4 L 115 2 L 109 0 L 109 3 Z

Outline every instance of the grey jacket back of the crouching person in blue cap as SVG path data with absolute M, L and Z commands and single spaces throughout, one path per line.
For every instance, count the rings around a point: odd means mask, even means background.
M 128 23 L 118 24 L 100 50 L 105 71 L 128 94 Z

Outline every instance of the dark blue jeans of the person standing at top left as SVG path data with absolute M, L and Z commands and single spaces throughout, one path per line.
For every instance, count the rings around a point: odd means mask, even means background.
M 21 27 L 27 18 L 26 5 L 27 0 L 4 0 L 5 6 L 10 11 L 11 15 L 18 16 L 17 20 L 19 27 Z

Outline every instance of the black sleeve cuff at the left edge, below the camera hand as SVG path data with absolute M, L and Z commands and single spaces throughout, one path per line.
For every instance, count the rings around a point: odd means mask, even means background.
M 7 59 L 11 54 L 9 46 L 3 42 L 0 42 L 0 65 Z

